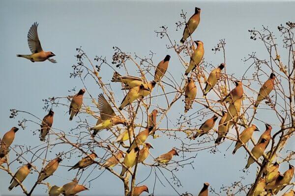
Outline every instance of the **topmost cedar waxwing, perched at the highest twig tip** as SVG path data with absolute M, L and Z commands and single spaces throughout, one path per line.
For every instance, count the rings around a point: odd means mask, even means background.
M 184 43 L 185 40 L 193 34 L 193 32 L 196 30 L 200 23 L 200 13 L 201 13 L 201 8 L 195 7 L 195 13 L 192 15 L 187 24 L 185 25 L 185 28 L 183 30 L 182 38 L 180 40 L 180 43 Z

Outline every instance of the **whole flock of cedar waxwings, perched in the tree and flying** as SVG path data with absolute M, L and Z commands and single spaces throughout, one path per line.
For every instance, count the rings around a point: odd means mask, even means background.
M 184 43 L 188 37 L 192 35 L 192 33 L 195 31 L 195 29 L 198 27 L 200 22 L 200 13 L 201 9 L 196 7 L 195 13 L 191 18 L 188 20 L 184 31 L 183 36 L 180 40 L 181 43 Z M 44 52 L 37 33 L 37 27 L 38 24 L 34 23 L 31 28 L 29 29 L 28 33 L 28 43 L 29 43 L 29 49 L 31 51 L 31 55 L 17 55 L 19 57 L 24 57 L 29 59 L 32 62 L 35 61 L 45 61 L 49 60 L 53 63 L 56 63 L 57 61 L 51 57 L 55 56 L 52 52 Z M 199 64 L 201 63 L 203 56 L 204 56 L 204 43 L 202 41 L 194 41 L 194 43 L 197 45 L 197 47 L 194 49 L 193 54 L 190 58 L 190 63 L 185 71 L 185 75 L 188 76 L 189 73 L 191 73 Z M 154 80 L 145 83 L 143 79 L 135 76 L 121 76 L 118 72 L 115 72 L 112 78 L 112 82 L 118 82 L 123 84 L 123 89 L 127 89 L 128 93 L 124 97 L 124 99 L 121 102 L 121 105 L 119 106 L 119 110 L 122 110 L 132 102 L 142 99 L 146 96 L 148 96 L 154 86 L 161 81 L 163 78 L 169 64 L 170 56 L 167 55 L 165 58 L 158 63 L 155 74 L 154 74 Z M 203 90 L 204 96 L 207 95 L 207 93 L 210 92 L 210 90 L 213 89 L 215 84 L 219 81 L 221 77 L 221 73 L 223 68 L 225 67 L 224 63 L 221 63 L 217 68 L 213 69 L 211 73 L 209 74 L 207 81 L 206 81 L 206 87 Z M 259 90 L 259 94 L 257 96 L 257 100 L 254 104 L 255 110 L 258 107 L 259 103 L 267 98 L 269 93 L 273 90 L 274 84 L 275 84 L 275 75 L 273 73 L 270 74 L 269 79 L 262 85 L 262 87 Z M 222 140 L 225 140 L 226 135 L 230 129 L 231 126 L 233 126 L 236 121 L 237 117 L 240 112 L 241 102 L 242 102 L 242 96 L 243 96 L 243 85 L 240 81 L 234 81 L 236 84 L 236 87 L 224 98 L 219 100 L 220 102 L 229 103 L 228 106 L 228 112 L 222 112 L 222 118 L 219 121 L 218 125 L 218 138 L 216 139 L 215 143 L 219 144 Z M 69 114 L 70 114 L 70 120 L 76 116 L 83 104 L 83 95 L 86 92 L 85 89 L 81 89 L 77 94 L 72 96 L 71 104 L 69 108 Z M 187 78 L 187 84 L 185 87 L 185 107 L 184 112 L 189 111 L 192 109 L 192 104 L 194 102 L 194 99 L 196 98 L 197 94 L 197 87 L 192 78 Z M 94 138 L 95 135 L 103 130 L 108 129 L 110 127 L 113 127 L 118 124 L 123 124 L 125 126 L 128 125 L 128 122 L 118 116 L 116 112 L 113 110 L 112 106 L 108 103 L 108 101 L 105 99 L 103 94 L 100 94 L 98 96 L 98 109 L 100 111 L 100 116 L 97 120 L 97 123 L 94 127 L 91 127 L 90 130 L 93 131 L 91 137 Z M 107 159 L 104 164 L 101 165 L 101 168 L 112 168 L 116 166 L 117 164 L 122 165 L 122 171 L 120 173 L 121 176 L 124 176 L 126 171 L 131 169 L 133 166 L 135 166 L 136 161 L 138 163 L 144 163 L 144 161 L 147 159 L 149 155 L 149 149 L 153 148 L 152 145 L 146 140 L 148 139 L 149 135 L 153 135 L 156 131 L 156 116 L 157 116 L 157 110 L 153 110 L 150 115 L 148 116 L 148 126 L 144 131 L 141 131 L 133 140 L 131 143 L 129 149 L 126 152 L 123 152 L 119 150 L 116 154 L 114 154 L 112 157 Z M 40 140 L 44 141 L 46 139 L 46 136 L 48 135 L 51 126 L 53 124 L 53 117 L 54 112 L 52 110 L 49 111 L 49 113 L 43 118 L 41 129 L 40 129 Z M 213 129 L 216 120 L 218 119 L 217 115 L 213 115 L 211 118 L 207 119 L 198 130 L 196 130 L 196 134 L 194 134 L 191 139 L 196 139 L 197 137 L 201 137 L 205 134 L 207 134 L 211 129 Z M 266 124 L 266 131 L 261 135 L 260 139 L 258 140 L 257 144 L 253 147 L 251 150 L 251 153 L 253 156 L 258 160 L 261 156 L 263 156 L 266 147 L 271 140 L 271 129 L 272 127 L 269 124 Z M 18 128 L 13 127 L 10 131 L 4 134 L 2 140 L 1 140 L 1 146 L 0 146 L 0 158 L 5 158 L 8 154 L 8 148 L 12 144 L 15 133 L 18 131 Z M 133 136 L 133 129 L 125 130 L 122 132 L 117 140 L 115 142 L 121 143 L 126 140 L 129 140 L 130 136 Z M 252 124 L 248 128 L 246 128 L 243 132 L 240 133 L 240 141 L 236 142 L 235 149 L 233 151 L 233 154 L 236 153 L 236 151 L 241 147 L 244 146 L 245 143 L 247 143 L 251 137 L 254 131 L 259 131 L 257 126 Z M 143 145 L 143 148 L 140 149 L 139 146 Z M 160 155 L 155 159 L 155 161 L 158 164 L 167 164 L 169 163 L 172 158 L 177 155 L 177 150 L 175 148 L 172 148 L 169 152 Z M 88 154 L 86 157 L 84 157 L 82 160 L 80 160 L 76 165 L 71 167 L 71 169 L 84 169 L 91 164 L 94 163 L 94 159 L 97 157 L 97 155 L 92 152 L 91 154 Z M 57 170 L 59 167 L 59 163 L 61 162 L 61 158 L 57 157 L 56 159 L 50 161 L 39 173 L 37 183 L 41 183 Z M 249 168 L 251 164 L 253 164 L 255 161 L 250 156 L 247 162 L 247 165 L 245 168 Z M 13 176 L 11 180 L 11 185 L 9 186 L 9 190 L 12 190 L 14 187 L 17 187 L 19 183 L 22 183 L 26 177 L 28 176 L 30 170 L 32 168 L 32 165 L 28 163 L 27 165 L 24 165 L 23 167 L 19 168 L 15 175 Z M 255 190 L 253 191 L 253 196 L 259 196 L 264 191 L 271 191 L 271 193 L 277 194 L 280 190 L 284 189 L 285 186 L 282 186 L 284 184 L 289 184 L 291 179 L 294 175 L 294 167 L 289 166 L 289 169 L 284 172 L 284 174 L 281 174 L 279 172 L 279 164 L 277 162 L 271 163 L 266 170 L 264 171 L 264 177 L 261 177 L 259 180 L 257 186 L 255 187 Z M 208 196 L 208 183 L 204 183 L 204 187 L 201 190 L 199 196 Z M 85 186 L 79 185 L 77 181 L 73 181 L 70 183 L 67 183 L 61 187 L 53 186 L 51 187 L 49 191 L 50 196 L 59 196 L 60 194 L 63 194 L 65 196 L 74 196 L 77 193 L 88 190 Z M 148 192 L 147 186 L 139 186 L 134 188 L 133 196 L 140 196 L 141 193 Z M 295 192 L 291 190 L 289 193 L 284 194 L 284 196 L 294 196 Z

